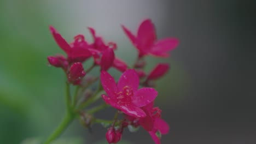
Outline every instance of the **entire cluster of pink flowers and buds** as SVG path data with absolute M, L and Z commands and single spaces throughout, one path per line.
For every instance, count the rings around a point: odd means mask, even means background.
M 48 62 L 54 67 L 62 68 L 67 76 L 67 81 L 73 85 L 81 85 L 83 77 L 88 73 L 83 68 L 83 62 L 89 58 L 94 59 L 94 66 L 100 66 L 100 80 L 106 94 L 102 99 L 110 106 L 123 113 L 123 119 L 115 118 L 108 128 L 106 139 L 108 143 L 117 143 L 121 140 L 123 129 L 127 127 L 142 127 L 148 131 L 155 143 L 160 143 L 161 135 L 169 131 L 168 124 L 161 118 L 161 110 L 154 107 L 154 100 L 158 92 L 152 88 L 154 81 L 165 75 L 169 69 L 166 63 L 159 63 L 149 73 L 144 71 L 146 61 L 144 57 L 168 57 L 171 50 L 177 47 L 176 38 L 165 38 L 158 40 L 154 24 L 151 20 L 144 20 L 134 35 L 125 26 L 121 26 L 124 33 L 130 39 L 138 51 L 138 57 L 133 67 L 115 56 L 117 44 L 104 43 L 102 37 L 96 35 L 93 28 L 89 28 L 94 41 L 88 43 L 84 35 L 76 35 L 72 43 L 65 39 L 50 26 L 50 32 L 66 53 L 63 55 L 49 56 Z M 115 68 L 123 73 L 118 82 L 115 82 L 107 70 Z

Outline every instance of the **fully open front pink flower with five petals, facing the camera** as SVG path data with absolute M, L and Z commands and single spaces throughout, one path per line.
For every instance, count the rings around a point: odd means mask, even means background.
M 102 94 L 103 100 L 133 117 L 146 117 L 146 113 L 139 107 L 151 103 L 158 95 L 154 88 L 138 89 L 139 77 L 135 70 L 126 70 L 118 84 L 106 71 L 101 71 L 101 83 L 107 93 Z

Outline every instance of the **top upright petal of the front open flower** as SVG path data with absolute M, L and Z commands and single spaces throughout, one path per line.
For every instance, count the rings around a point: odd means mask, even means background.
M 122 91 L 125 86 L 132 88 L 136 92 L 139 86 L 139 77 L 134 69 L 126 70 L 118 81 L 118 90 Z

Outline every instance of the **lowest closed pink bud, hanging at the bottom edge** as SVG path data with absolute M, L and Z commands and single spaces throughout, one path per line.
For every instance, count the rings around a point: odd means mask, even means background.
M 106 133 L 106 139 L 108 143 L 117 143 L 121 140 L 121 131 L 116 131 L 113 127 L 110 127 Z

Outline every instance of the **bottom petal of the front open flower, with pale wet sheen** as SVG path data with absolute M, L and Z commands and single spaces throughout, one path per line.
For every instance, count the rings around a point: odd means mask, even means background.
M 120 105 L 119 110 L 123 111 L 126 115 L 133 117 L 146 117 L 146 113 L 139 107 L 133 106 L 131 104 Z

